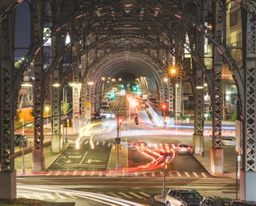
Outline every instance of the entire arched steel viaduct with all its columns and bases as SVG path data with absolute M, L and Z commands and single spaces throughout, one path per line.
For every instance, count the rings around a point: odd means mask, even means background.
M 30 14 L 30 44 L 15 47 L 19 6 Z M 73 122 L 86 124 L 107 87 L 103 77 L 137 79 L 169 111 L 180 111 L 176 78 L 194 95 L 194 148 L 203 154 L 204 83 L 212 100 L 212 172 L 223 172 L 223 74 L 238 93 L 240 197 L 256 201 L 256 3 L 254 0 L 2 0 L 0 2 L 0 198 L 16 197 L 14 117 L 23 76 L 34 63 L 34 172 L 44 170 L 43 108 L 52 108 L 52 151 L 62 151 L 61 101 L 73 82 Z M 44 30 L 44 28 L 47 28 Z M 67 38 L 70 41 L 66 41 Z M 50 55 L 44 43 L 51 39 Z M 15 51 L 26 52 L 14 66 Z M 48 66 L 45 66 L 48 59 Z M 165 80 L 164 80 L 165 77 Z M 50 95 L 50 98 L 49 98 Z M 176 98 L 174 98 L 176 97 Z M 80 107 L 81 105 L 81 107 Z

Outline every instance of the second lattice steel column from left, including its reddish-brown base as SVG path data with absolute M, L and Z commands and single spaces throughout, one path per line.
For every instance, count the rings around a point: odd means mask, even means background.
M 32 42 L 41 40 L 43 37 L 41 2 L 32 2 L 33 36 Z M 43 74 L 43 46 L 41 45 L 34 54 L 34 148 L 32 151 L 33 172 L 41 172 L 45 168 L 44 162 L 44 92 L 45 85 Z

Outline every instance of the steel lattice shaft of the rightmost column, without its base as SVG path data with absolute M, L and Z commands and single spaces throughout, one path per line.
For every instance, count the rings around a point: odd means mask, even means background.
M 247 13 L 247 27 L 244 30 L 244 87 L 240 83 L 240 88 L 244 88 L 244 129 L 243 129 L 243 169 L 245 172 L 256 172 L 256 16 Z M 241 91 L 243 92 L 243 91 Z

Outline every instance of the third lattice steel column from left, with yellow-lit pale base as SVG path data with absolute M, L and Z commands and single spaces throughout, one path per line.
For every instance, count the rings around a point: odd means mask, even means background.
M 59 42 L 62 37 L 54 35 L 52 37 L 52 57 L 53 61 L 58 62 L 56 57 L 61 48 Z M 60 129 L 60 115 L 61 115 L 61 87 L 60 87 L 60 66 L 55 64 L 52 74 L 52 153 L 59 153 L 62 151 L 62 135 Z

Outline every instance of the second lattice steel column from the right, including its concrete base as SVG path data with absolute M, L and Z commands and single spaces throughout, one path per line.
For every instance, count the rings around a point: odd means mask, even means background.
M 215 2 L 215 36 L 222 41 L 224 28 L 224 12 L 226 9 L 219 1 Z M 219 48 L 214 47 L 213 58 L 213 91 L 212 91 L 212 148 L 211 170 L 215 174 L 222 174 L 223 149 L 222 149 L 222 56 Z

